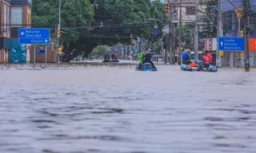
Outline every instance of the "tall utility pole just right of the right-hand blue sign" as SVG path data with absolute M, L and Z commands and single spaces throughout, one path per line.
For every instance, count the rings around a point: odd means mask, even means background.
M 250 72 L 250 59 L 249 59 L 249 0 L 243 0 L 243 7 L 244 7 L 244 14 L 243 14 L 243 26 L 244 26 L 244 33 L 245 33 L 245 72 Z

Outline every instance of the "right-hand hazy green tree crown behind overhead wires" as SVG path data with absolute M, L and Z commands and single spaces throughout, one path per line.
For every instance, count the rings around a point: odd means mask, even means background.
M 95 14 L 97 17 L 95 20 L 102 21 L 104 25 L 109 23 L 116 25 L 97 29 L 94 34 L 103 34 L 105 37 L 102 37 L 104 40 L 102 42 L 112 44 L 116 44 L 118 41 L 123 44 L 130 44 L 131 34 L 133 37 L 142 35 L 152 43 L 162 36 L 162 30 L 160 30 L 160 34 L 152 34 L 154 27 L 157 26 L 158 29 L 162 29 L 163 25 L 158 21 L 150 21 L 149 18 L 165 21 L 166 14 L 163 9 L 164 5 L 160 0 L 154 2 L 150 2 L 150 0 L 99 0 L 96 10 L 98 14 Z M 103 18 L 98 18 L 102 16 Z

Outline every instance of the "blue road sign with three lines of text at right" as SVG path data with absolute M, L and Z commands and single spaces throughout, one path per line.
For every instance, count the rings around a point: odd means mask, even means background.
M 244 37 L 219 37 L 218 49 L 223 51 L 238 51 L 245 50 L 245 38 Z

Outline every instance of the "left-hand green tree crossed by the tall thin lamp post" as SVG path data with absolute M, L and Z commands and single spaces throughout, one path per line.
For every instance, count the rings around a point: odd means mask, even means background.
M 82 34 L 89 33 L 88 29 L 94 17 L 94 6 L 89 0 L 62 0 L 62 38 L 65 61 L 82 54 L 84 46 L 79 40 Z M 49 27 L 51 36 L 55 37 L 55 25 L 58 23 L 58 0 L 34 0 L 32 9 L 33 27 Z M 80 43 L 79 43 L 80 42 Z

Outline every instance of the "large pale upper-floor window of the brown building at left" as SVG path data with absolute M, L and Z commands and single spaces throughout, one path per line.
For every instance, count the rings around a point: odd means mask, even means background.
M 22 7 L 11 7 L 11 27 L 22 27 Z

